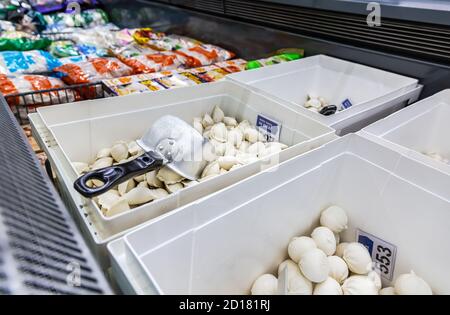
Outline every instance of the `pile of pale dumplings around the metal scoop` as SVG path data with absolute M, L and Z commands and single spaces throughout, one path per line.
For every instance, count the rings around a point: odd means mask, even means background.
M 102 213 L 111 217 L 129 211 L 287 148 L 287 145 L 279 142 L 267 142 L 247 120 L 238 123 L 235 118 L 225 116 L 218 106 L 214 107 L 211 114 L 206 113 L 201 118 L 194 118 L 193 126 L 209 139 L 213 147 L 211 152 L 208 152 L 209 163 L 198 181 L 185 179 L 169 168 L 162 167 L 129 179 L 93 198 Z M 118 141 L 111 148 L 98 151 L 92 164 L 74 162 L 72 165 L 78 175 L 82 175 L 92 170 L 128 162 L 143 153 L 136 141 Z M 90 180 L 87 185 L 101 187 L 103 183 Z

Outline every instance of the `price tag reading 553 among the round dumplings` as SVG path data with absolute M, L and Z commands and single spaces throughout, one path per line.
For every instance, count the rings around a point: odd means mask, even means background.
M 380 272 L 380 276 L 392 281 L 394 276 L 395 258 L 397 256 L 397 247 L 361 230 L 356 231 L 356 239 L 369 251 L 369 254 L 372 256 L 375 269 Z

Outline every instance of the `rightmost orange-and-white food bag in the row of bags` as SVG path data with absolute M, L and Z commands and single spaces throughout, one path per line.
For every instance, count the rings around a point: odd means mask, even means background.
M 216 62 L 231 59 L 235 54 L 215 45 L 198 45 L 192 48 L 176 50 L 175 53 L 185 58 L 186 68 L 208 66 Z

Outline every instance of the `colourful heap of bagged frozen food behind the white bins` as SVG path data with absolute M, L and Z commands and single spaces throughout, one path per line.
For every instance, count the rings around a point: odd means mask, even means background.
M 75 2 L 79 13 L 63 11 L 74 7 L 73 0 L 0 0 L 0 92 L 10 105 L 103 97 L 97 87 L 73 87 L 80 84 L 103 82 L 110 95 L 189 86 L 301 57 L 247 64 L 227 49 L 186 36 L 120 29 L 97 1 Z

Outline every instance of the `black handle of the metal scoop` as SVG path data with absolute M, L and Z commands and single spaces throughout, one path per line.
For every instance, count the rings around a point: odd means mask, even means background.
M 92 198 L 107 192 L 112 187 L 127 181 L 128 179 L 153 171 L 164 165 L 164 160 L 154 152 L 145 152 L 143 155 L 129 162 L 114 166 L 104 167 L 88 172 L 79 177 L 73 184 L 76 191 L 84 197 Z M 97 179 L 104 183 L 101 187 L 90 188 L 87 182 Z

